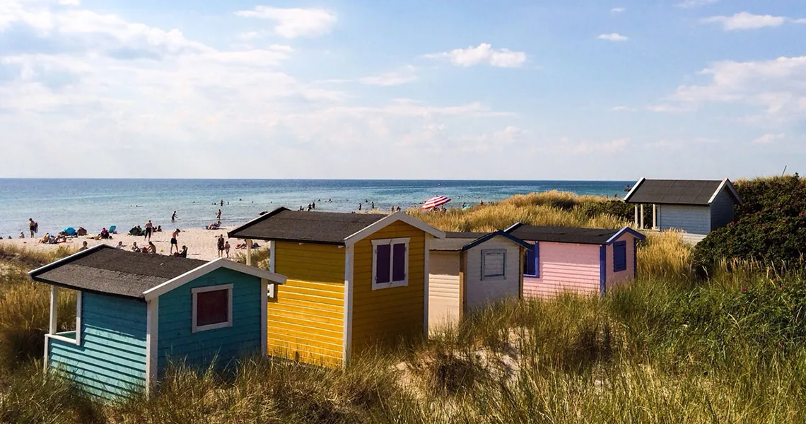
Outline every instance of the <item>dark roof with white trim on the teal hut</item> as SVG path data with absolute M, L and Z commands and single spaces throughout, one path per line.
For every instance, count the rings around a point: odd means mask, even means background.
M 207 262 L 176 256 L 135 253 L 106 244 L 99 244 L 36 268 L 28 272 L 28 275 L 34 281 L 68 289 L 148 300 L 218 268 L 230 268 L 278 284 L 285 283 L 285 276 L 231 260 L 218 259 Z M 193 278 L 183 280 L 183 277 L 188 275 L 193 275 Z M 166 285 L 166 283 L 172 284 Z M 160 293 L 152 292 L 151 296 L 147 296 L 149 291 L 160 286 L 170 289 Z

